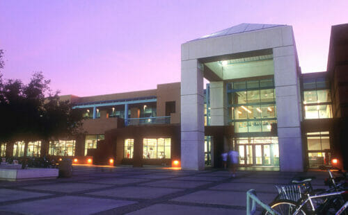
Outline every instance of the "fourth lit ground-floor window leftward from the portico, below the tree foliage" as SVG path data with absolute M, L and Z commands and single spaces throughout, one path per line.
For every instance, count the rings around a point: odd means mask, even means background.
M 74 140 L 49 141 L 49 155 L 74 156 L 75 141 Z

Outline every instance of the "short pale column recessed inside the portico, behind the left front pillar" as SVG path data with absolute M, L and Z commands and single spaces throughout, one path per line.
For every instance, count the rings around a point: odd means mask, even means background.
M 226 108 L 226 89 L 223 81 L 214 81 L 210 83 L 210 125 L 226 126 L 227 108 Z

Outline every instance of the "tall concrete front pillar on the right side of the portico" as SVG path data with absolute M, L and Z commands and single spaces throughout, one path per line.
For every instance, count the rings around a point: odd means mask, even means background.
M 283 46 L 273 51 L 280 171 L 303 171 L 296 49 Z

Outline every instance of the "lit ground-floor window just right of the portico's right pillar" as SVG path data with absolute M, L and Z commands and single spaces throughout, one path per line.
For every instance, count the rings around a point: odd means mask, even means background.
M 329 164 L 331 160 L 329 132 L 308 132 L 306 137 L 309 166 Z

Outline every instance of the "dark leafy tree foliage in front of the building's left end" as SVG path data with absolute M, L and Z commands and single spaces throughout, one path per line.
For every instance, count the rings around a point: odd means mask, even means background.
M 0 142 L 49 141 L 79 132 L 81 112 L 60 101 L 58 92 L 50 94 L 49 83 L 42 72 L 35 72 L 27 85 L 18 79 L 5 81 L 0 72 Z

